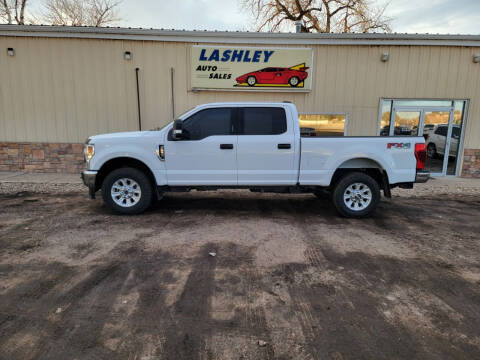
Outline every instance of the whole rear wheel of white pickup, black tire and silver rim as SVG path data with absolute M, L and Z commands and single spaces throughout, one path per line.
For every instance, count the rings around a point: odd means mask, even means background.
M 380 201 L 380 187 L 371 176 L 353 172 L 342 177 L 333 190 L 337 211 L 351 218 L 367 217 Z

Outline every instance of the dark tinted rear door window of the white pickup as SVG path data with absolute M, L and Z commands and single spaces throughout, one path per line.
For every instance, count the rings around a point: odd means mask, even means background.
M 285 110 L 280 107 L 246 107 L 240 111 L 239 135 L 279 135 L 287 131 Z

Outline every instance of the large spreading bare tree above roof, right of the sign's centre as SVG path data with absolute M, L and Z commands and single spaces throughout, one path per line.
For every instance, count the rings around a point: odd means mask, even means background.
M 372 0 L 242 0 L 258 31 L 277 31 L 300 21 L 302 32 L 390 32 L 387 6 L 376 7 Z

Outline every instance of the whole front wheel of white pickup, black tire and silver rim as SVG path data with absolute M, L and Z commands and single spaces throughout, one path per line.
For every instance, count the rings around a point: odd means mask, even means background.
M 148 177 L 135 168 L 120 168 L 107 175 L 102 184 L 105 204 L 121 214 L 140 214 L 152 202 L 152 184 Z

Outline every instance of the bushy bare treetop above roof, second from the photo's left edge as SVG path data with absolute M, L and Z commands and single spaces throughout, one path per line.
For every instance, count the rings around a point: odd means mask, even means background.
M 53 25 L 105 26 L 120 20 L 116 11 L 120 3 L 121 0 L 46 0 L 43 21 Z

